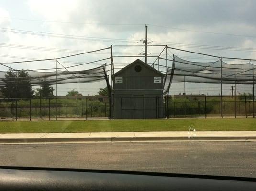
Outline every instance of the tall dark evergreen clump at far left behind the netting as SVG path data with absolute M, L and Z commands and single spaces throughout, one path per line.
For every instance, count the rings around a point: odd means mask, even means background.
M 1 92 L 6 98 L 26 98 L 32 97 L 34 91 L 32 90 L 32 86 L 30 85 L 30 79 L 28 76 L 28 72 L 25 70 L 13 72 L 9 70 L 7 74 L 4 75 L 5 78 L 3 81 L 5 82 L 5 86 L 1 88 Z

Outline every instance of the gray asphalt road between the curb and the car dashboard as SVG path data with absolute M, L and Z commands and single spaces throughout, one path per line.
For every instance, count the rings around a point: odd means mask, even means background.
M 256 142 L 0 145 L 0 165 L 256 177 Z

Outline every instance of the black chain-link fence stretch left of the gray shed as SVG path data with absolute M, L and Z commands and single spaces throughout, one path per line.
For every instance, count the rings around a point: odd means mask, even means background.
M 0 120 L 108 118 L 108 98 L 0 99 Z

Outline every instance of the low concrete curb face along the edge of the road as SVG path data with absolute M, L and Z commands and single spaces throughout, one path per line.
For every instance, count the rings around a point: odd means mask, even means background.
M 118 141 L 209 141 L 209 140 L 256 140 L 256 136 L 211 136 L 211 137 L 99 137 L 99 138 L 0 138 L 0 143 L 38 143 L 38 142 L 118 142 Z

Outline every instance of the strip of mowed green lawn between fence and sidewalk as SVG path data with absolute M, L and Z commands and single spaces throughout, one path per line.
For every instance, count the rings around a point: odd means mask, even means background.
M 256 119 L 143 119 L 0 122 L 0 133 L 255 131 Z

